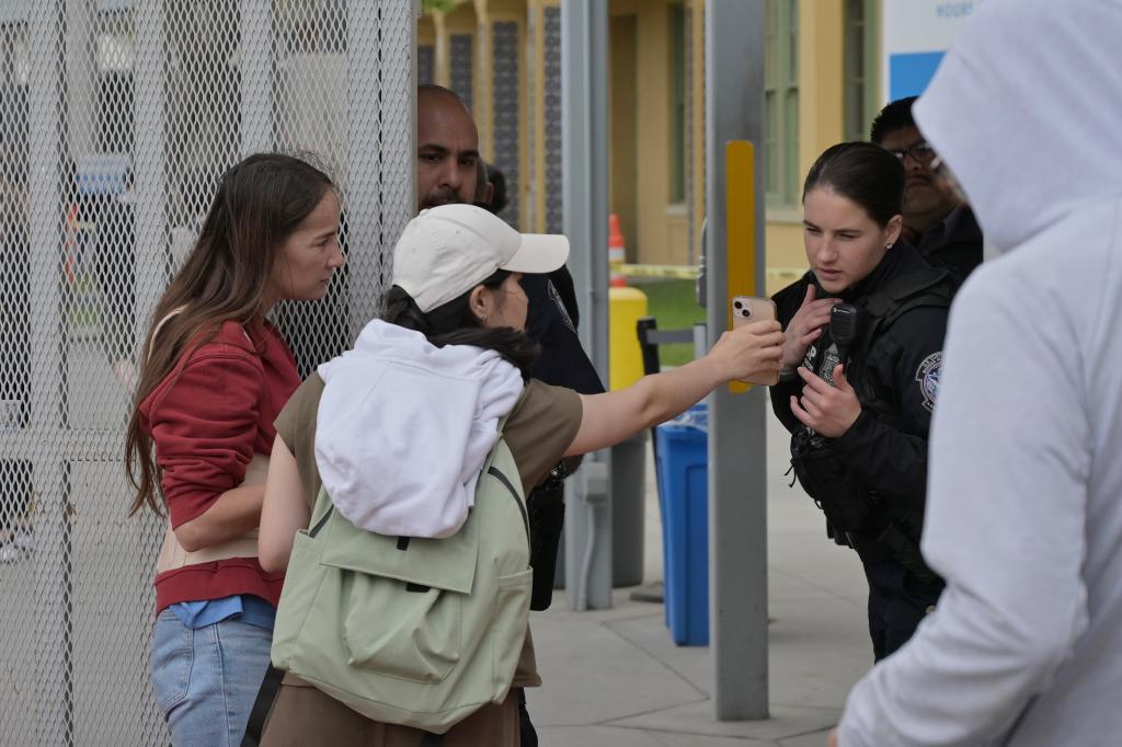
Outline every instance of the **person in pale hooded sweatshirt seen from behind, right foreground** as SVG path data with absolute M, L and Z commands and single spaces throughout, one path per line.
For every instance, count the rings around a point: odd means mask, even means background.
M 1122 0 L 987 0 L 916 104 L 1003 256 L 950 315 L 936 612 L 840 747 L 1122 743 Z

